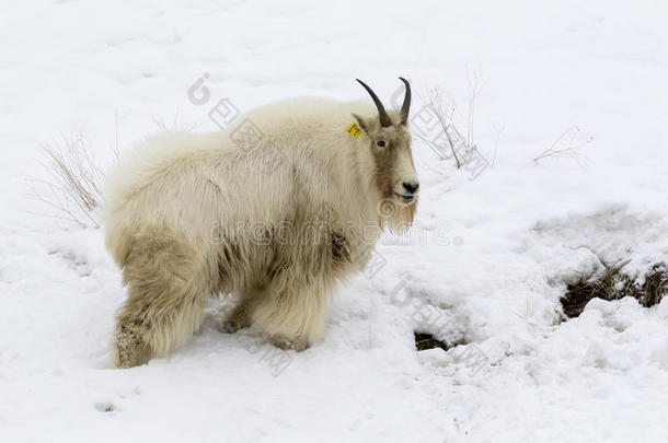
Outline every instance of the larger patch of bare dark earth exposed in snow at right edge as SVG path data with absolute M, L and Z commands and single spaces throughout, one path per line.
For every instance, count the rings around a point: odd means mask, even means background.
M 642 283 L 621 270 L 629 261 L 609 268 L 601 277 L 583 278 L 575 284 L 568 284 L 566 293 L 561 298 L 564 314 L 577 317 L 591 299 L 607 301 L 632 296 L 645 307 L 658 304 L 668 292 L 668 268 L 658 263 L 647 270 Z

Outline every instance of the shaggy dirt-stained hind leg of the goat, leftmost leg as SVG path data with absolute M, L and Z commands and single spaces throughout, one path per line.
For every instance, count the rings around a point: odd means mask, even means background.
M 174 238 L 140 240 L 125 264 L 129 296 L 112 343 L 117 368 L 181 348 L 199 328 L 210 294 L 194 250 Z

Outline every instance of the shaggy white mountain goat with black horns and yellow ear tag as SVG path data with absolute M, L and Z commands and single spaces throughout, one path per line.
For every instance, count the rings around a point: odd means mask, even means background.
M 219 132 L 148 139 L 112 171 L 106 245 L 128 287 L 116 366 L 182 347 L 216 293 L 238 299 L 227 331 L 254 324 L 284 349 L 313 343 L 335 284 L 364 269 L 383 229 L 413 221 L 401 80 L 400 112 L 358 80 L 375 106 L 285 101 Z

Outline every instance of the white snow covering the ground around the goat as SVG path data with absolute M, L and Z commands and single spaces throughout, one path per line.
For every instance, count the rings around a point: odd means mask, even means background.
M 3 2 L 0 441 L 668 441 L 668 301 L 594 300 L 567 322 L 558 303 L 580 272 L 668 259 L 667 13 L 658 1 Z M 38 215 L 53 213 L 26 180 L 47 178 L 42 145 L 84 133 L 110 165 L 153 120 L 215 130 L 224 97 L 240 110 L 365 100 L 360 78 L 389 101 L 398 75 L 423 96 L 441 86 L 464 132 L 477 85 L 488 166 L 458 171 L 415 137 L 416 226 L 341 289 L 323 341 L 293 353 L 221 334 L 218 300 L 183 351 L 110 369 L 120 273 L 101 230 Z M 533 161 L 573 126 L 557 147 L 586 159 Z M 462 345 L 417 352 L 414 330 Z

